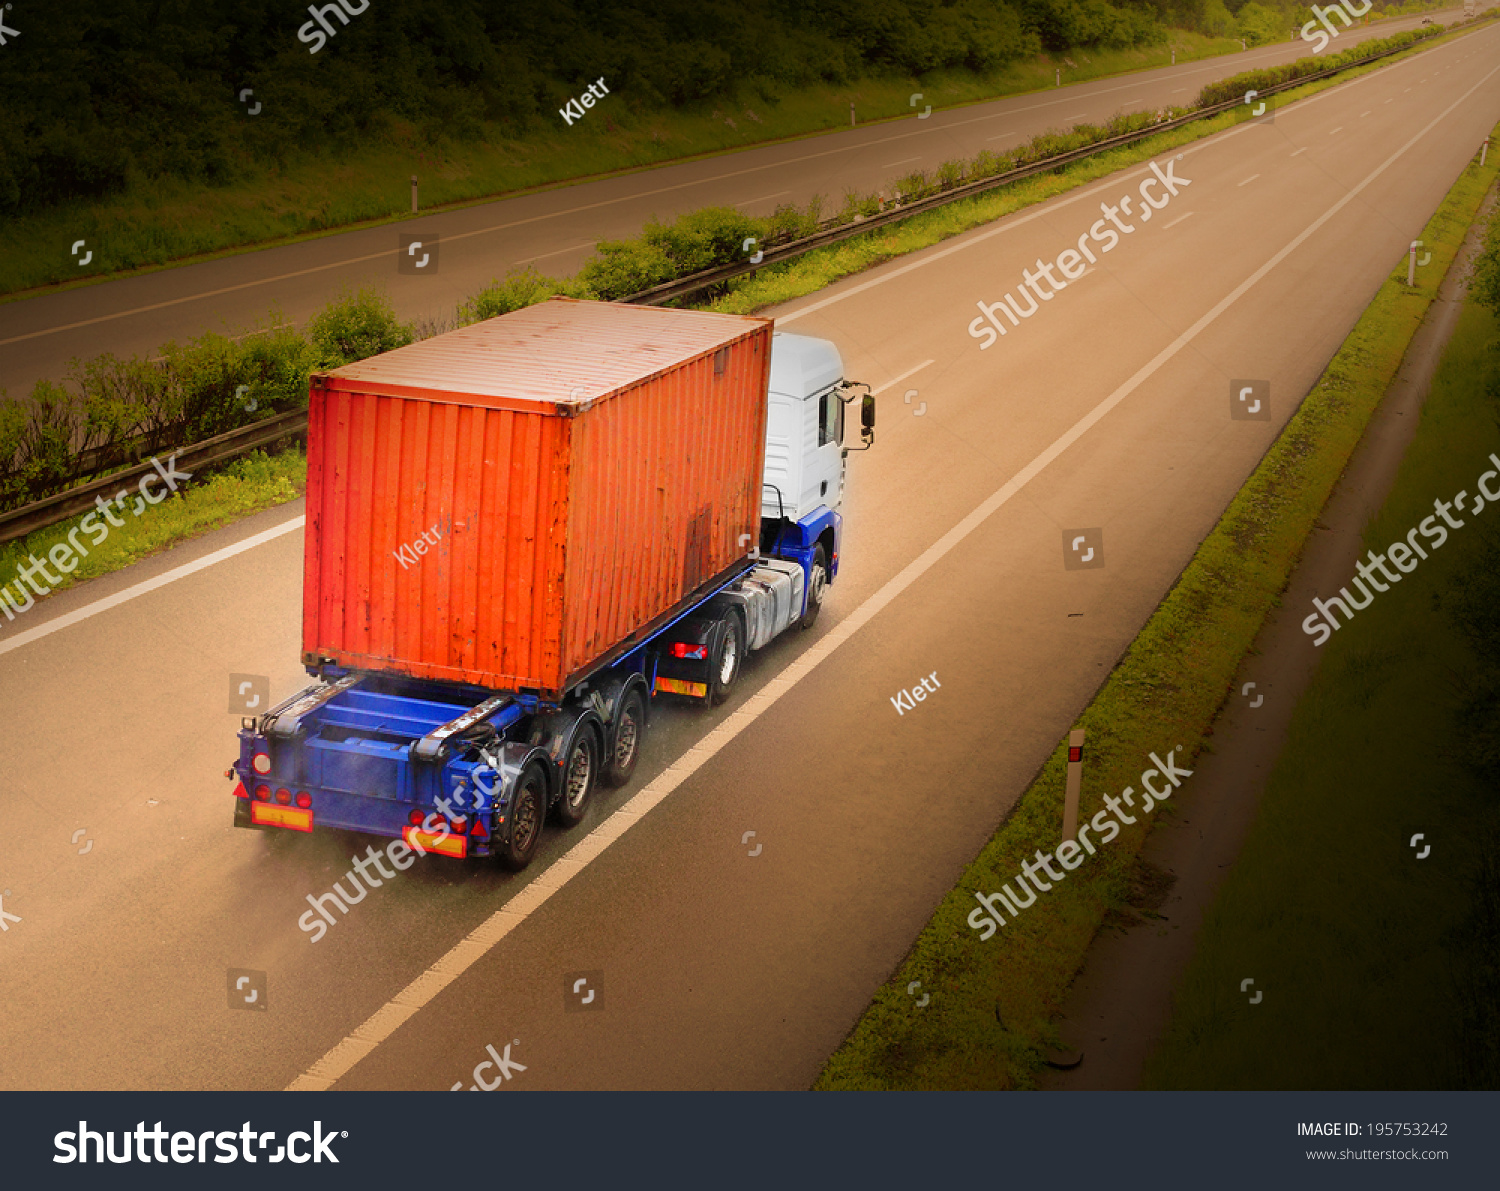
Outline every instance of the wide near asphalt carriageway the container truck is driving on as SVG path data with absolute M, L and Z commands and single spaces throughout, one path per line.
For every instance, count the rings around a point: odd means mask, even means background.
M 230 826 L 230 674 L 306 681 L 300 506 L 0 628 L 0 1086 L 448 1089 L 507 1044 L 514 1088 L 808 1086 L 1497 120 L 1488 27 L 1158 160 L 1176 196 L 990 348 L 975 303 L 1148 166 L 774 312 L 884 388 L 840 579 L 525 874 L 430 860 L 312 944 L 364 842 Z

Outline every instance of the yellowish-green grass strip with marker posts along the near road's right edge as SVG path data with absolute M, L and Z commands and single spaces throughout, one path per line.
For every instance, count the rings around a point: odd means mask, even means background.
M 1395 376 L 1500 160 L 1472 162 L 1422 232 L 1432 261 L 1408 290 L 1404 266 L 1329 363 L 1260 466 L 1078 718 L 1089 734 L 1080 820 L 1106 794 L 1138 786 L 1148 754 L 1194 756 L 1240 658 L 1276 604 L 1312 525 Z M 1179 753 L 1179 764 L 1184 762 Z M 1108 914 L 1131 914 L 1136 855 L 1149 822 L 1126 826 L 1100 855 L 1038 896 L 988 942 L 966 922 L 975 892 L 1011 880 L 1062 822 L 1066 746 L 1022 795 L 944 898 L 816 1082 L 820 1089 L 1030 1088 L 1054 1046 L 1053 1018 Z M 1170 804 L 1168 804 L 1170 808 Z M 1168 813 L 1167 810 L 1156 812 Z M 906 994 L 921 981 L 932 1002 Z

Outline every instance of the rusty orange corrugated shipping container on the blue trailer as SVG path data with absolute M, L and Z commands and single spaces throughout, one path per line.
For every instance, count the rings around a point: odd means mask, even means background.
M 770 356 L 554 298 L 315 375 L 303 662 L 558 699 L 750 554 Z

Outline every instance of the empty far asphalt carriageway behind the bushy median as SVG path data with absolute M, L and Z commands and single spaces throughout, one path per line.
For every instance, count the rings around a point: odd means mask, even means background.
M 1431 14 L 1452 21 L 1462 8 Z M 1328 48 L 1413 28 L 1425 16 L 1356 26 Z M 274 308 L 302 326 L 346 286 L 381 285 L 402 318 L 452 316 L 454 306 L 519 264 L 576 272 L 598 240 L 634 236 L 652 216 L 706 206 L 766 214 L 783 202 L 888 188 L 912 170 L 1012 147 L 1047 129 L 1119 111 L 1186 104 L 1204 84 L 1311 52 L 1300 38 L 1206 62 L 1143 70 L 1000 99 L 926 118 L 844 129 L 740 153 L 504 198 L 462 210 L 306 240 L 216 261 L 144 273 L 0 304 L 0 388 L 22 399 L 38 380 L 58 381 L 75 357 L 104 351 L 154 356 L 204 332 L 243 333 Z M 438 237 L 434 273 L 396 272 L 402 234 Z M 60 244 L 66 254 L 69 244 Z M 96 260 L 108 258 L 100 243 Z

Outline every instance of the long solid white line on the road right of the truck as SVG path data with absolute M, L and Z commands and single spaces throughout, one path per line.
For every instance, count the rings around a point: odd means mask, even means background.
M 1312 224 L 1310 224 L 1302 232 L 1296 236 L 1286 248 L 1278 250 L 1269 261 L 1266 261 L 1260 268 L 1251 273 L 1245 280 L 1236 285 L 1226 297 L 1220 298 L 1208 314 L 1198 318 L 1191 327 L 1188 327 L 1182 334 L 1173 339 L 1167 346 L 1158 351 L 1150 360 L 1142 364 L 1136 374 L 1119 386 L 1113 393 L 1110 393 L 1104 400 L 1095 405 L 1088 414 L 1078 418 L 1068 430 L 1058 436 L 1050 447 L 1047 447 L 1041 454 L 1032 459 L 1024 468 L 1022 468 L 1016 476 L 1000 484 L 987 500 L 984 500 L 976 508 L 974 508 L 963 520 L 954 525 L 946 534 L 944 534 L 938 542 L 921 552 L 915 560 L 906 564 L 906 567 L 892 579 L 888 579 L 879 591 L 870 596 L 862 604 L 860 604 L 854 612 L 850 612 L 844 620 L 838 621 L 832 628 L 830 628 L 822 638 L 818 639 L 812 646 L 808 646 L 801 657 L 788 664 L 782 674 L 766 682 L 760 690 L 758 690 L 750 699 L 746 700 L 744 706 L 738 711 L 730 712 L 724 720 L 710 732 L 699 744 L 687 750 L 681 758 L 668 765 L 668 768 L 652 778 L 645 789 L 638 795 L 624 802 L 614 814 L 610 814 L 604 822 L 588 832 L 582 840 L 568 849 L 567 855 L 561 860 L 554 861 L 549 868 L 538 873 L 526 886 L 510 898 L 504 906 L 495 910 L 489 918 L 480 922 L 474 930 L 468 933 L 465 939 L 454 944 L 447 954 L 438 958 L 426 972 L 412 980 L 405 988 L 402 988 L 396 996 L 393 996 L 386 1005 L 370 1014 L 364 1022 L 354 1028 L 354 1030 L 342 1042 L 334 1046 L 327 1054 L 318 1059 L 306 1072 L 298 1076 L 286 1088 L 288 1092 L 315 1092 L 326 1090 L 334 1084 L 336 1080 L 348 1074 L 354 1065 L 369 1054 L 375 1047 L 390 1038 L 402 1024 L 405 1024 L 412 1016 L 417 1014 L 423 1006 L 426 1006 L 438 993 L 447 988 L 453 981 L 464 975 L 482 956 L 488 954 L 501 939 L 510 934 L 518 926 L 526 921 L 540 906 L 543 906 L 548 898 L 552 897 L 558 890 L 568 884 L 574 876 L 584 872 L 590 861 L 598 858 L 604 849 L 609 848 L 615 840 L 624 836 L 632 826 L 645 818 L 646 812 L 657 806 L 663 798 L 666 798 L 672 790 L 681 786 L 688 777 L 692 777 L 704 764 L 714 758 L 726 744 L 729 744 L 735 736 L 744 732 L 750 724 L 753 724 L 760 716 L 771 710 L 771 706 L 780 699 L 786 692 L 802 681 L 808 674 L 818 669 L 840 645 L 843 645 L 849 638 L 858 633 L 866 624 L 868 624 L 874 616 L 885 609 L 896 597 L 898 597 L 906 588 L 921 579 L 928 570 L 932 570 L 938 562 L 940 562 L 950 552 L 952 552 L 960 542 L 963 542 L 969 534 L 978 530 L 986 520 L 990 519 L 1002 506 L 1005 506 L 1012 496 L 1016 496 L 1026 484 L 1036 478 L 1050 464 L 1068 450 L 1074 442 L 1083 438 L 1090 429 L 1094 429 L 1104 417 L 1114 410 L 1125 398 L 1134 393 L 1144 381 L 1150 380 L 1162 364 L 1168 363 L 1182 348 L 1197 339 L 1221 314 L 1224 314 L 1230 306 L 1239 302 L 1250 290 L 1257 285 L 1270 270 L 1281 264 L 1287 256 L 1296 252 L 1302 244 L 1312 238 L 1324 224 L 1334 219 L 1340 212 L 1344 210 L 1350 202 L 1359 198 L 1370 184 L 1386 172 L 1396 160 L 1401 159 L 1407 150 L 1410 150 L 1418 141 L 1426 136 L 1434 128 L 1437 128 L 1443 120 L 1446 120 L 1454 111 L 1456 111 L 1470 94 L 1479 90 L 1491 75 L 1500 72 L 1500 66 L 1496 66 L 1485 75 L 1479 82 L 1468 88 L 1460 99 L 1456 99 L 1446 111 L 1443 111 L 1437 118 L 1434 118 L 1426 128 L 1424 128 L 1416 136 L 1407 141 L 1401 148 L 1384 159 L 1378 166 L 1376 166 L 1370 174 L 1365 176 L 1364 182 L 1350 189 L 1338 202 L 1329 207 L 1323 214 L 1320 214 Z M 1240 124 L 1240 128 L 1248 128 L 1248 124 Z M 1118 178 L 1113 184 L 1119 184 Z M 968 242 L 968 248 L 981 242 L 984 237 L 976 237 Z M 956 249 L 957 250 L 957 249 Z M 873 285 L 880 285 L 886 280 L 892 280 L 903 273 L 910 272 L 910 268 L 921 267 L 922 264 L 930 264 L 934 260 L 940 260 L 938 254 L 927 256 L 924 261 L 906 268 L 891 270 L 891 273 L 882 279 L 867 282 L 862 286 L 850 288 L 837 297 L 826 298 L 820 303 L 813 303 L 796 312 L 798 315 L 807 314 L 813 309 L 820 309 L 824 306 L 832 304 L 834 302 L 843 302 L 850 294 L 868 290 Z M 794 315 L 795 316 L 795 315 Z M 788 321 L 786 318 L 778 318 L 778 322 Z M 892 381 L 894 384 L 894 381 Z

